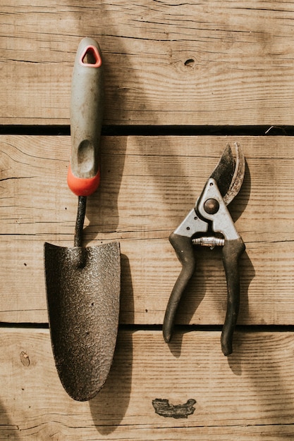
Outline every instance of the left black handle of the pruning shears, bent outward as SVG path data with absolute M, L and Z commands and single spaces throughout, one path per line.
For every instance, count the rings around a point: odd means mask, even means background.
M 173 248 L 176 251 L 178 259 L 182 264 L 182 270 L 176 280 L 176 283 L 169 297 L 169 303 L 166 306 L 166 313 L 164 316 L 164 341 L 169 343 L 171 335 L 173 333 L 173 323 L 175 321 L 176 310 L 180 302 L 180 297 L 188 285 L 190 278 L 195 271 L 195 256 L 193 251 L 193 245 L 190 237 L 180 236 L 172 232 L 169 236 L 169 242 L 171 242 Z

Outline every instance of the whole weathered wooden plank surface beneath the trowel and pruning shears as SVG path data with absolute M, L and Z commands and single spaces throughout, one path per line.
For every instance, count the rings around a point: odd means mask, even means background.
M 294 1 L 1 3 L 0 440 L 294 439 Z M 80 403 L 54 366 L 43 244 L 73 244 L 69 101 L 85 36 L 106 90 L 85 242 L 118 240 L 122 274 L 114 364 Z M 171 344 L 161 328 L 180 271 L 169 234 L 228 142 L 247 166 L 230 206 L 246 251 L 226 358 L 219 249 L 199 251 Z M 195 411 L 164 417 L 162 399 Z

